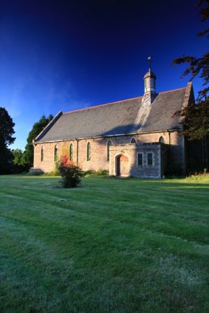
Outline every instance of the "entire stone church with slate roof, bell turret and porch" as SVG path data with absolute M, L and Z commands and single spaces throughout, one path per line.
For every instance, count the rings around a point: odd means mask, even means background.
M 161 178 L 167 165 L 187 167 L 183 120 L 173 113 L 194 101 L 192 83 L 156 93 L 155 74 L 144 76 L 144 95 L 59 112 L 34 141 L 34 169 L 54 170 L 63 155 L 82 170 Z

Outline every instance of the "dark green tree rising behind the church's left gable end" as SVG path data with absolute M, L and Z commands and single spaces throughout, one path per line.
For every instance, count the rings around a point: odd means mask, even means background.
M 27 138 L 27 144 L 22 156 L 22 164 L 30 168 L 33 166 L 33 140 L 40 134 L 40 132 L 47 126 L 47 124 L 52 120 L 53 116 L 50 114 L 48 118 L 42 115 L 40 120 L 33 125 L 33 128 L 29 132 Z

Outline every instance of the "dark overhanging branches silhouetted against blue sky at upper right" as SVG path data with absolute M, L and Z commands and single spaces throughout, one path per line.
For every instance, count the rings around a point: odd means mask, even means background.
M 201 0 L 197 4 L 199 7 L 202 5 L 206 5 L 200 10 L 201 22 L 204 22 L 209 19 L 209 0 Z M 209 38 L 209 29 L 201 31 L 198 35 L 207 35 L 207 38 Z M 176 65 L 181 63 L 188 63 L 189 65 L 185 72 L 183 72 L 182 77 L 185 77 L 187 74 L 191 74 L 191 79 L 194 79 L 194 77 L 199 74 L 201 79 L 203 79 L 203 89 L 199 90 L 198 100 L 201 101 L 202 99 L 205 99 L 209 91 L 209 51 L 206 51 L 206 53 L 199 58 L 196 58 L 195 56 L 182 56 L 180 58 L 176 58 L 173 60 L 172 64 Z

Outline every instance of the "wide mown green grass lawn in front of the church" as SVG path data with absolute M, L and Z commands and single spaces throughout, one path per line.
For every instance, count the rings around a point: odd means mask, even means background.
M 0 176 L 0 312 L 209 312 L 209 180 Z

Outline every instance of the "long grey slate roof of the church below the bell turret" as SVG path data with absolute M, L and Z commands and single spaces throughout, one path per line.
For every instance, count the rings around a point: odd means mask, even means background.
M 157 94 L 143 123 L 139 116 L 144 110 L 143 97 L 59 113 L 35 142 L 180 129 L 178 118 L 171 118 L 171 115 L 182 108 L 186 89 Z

